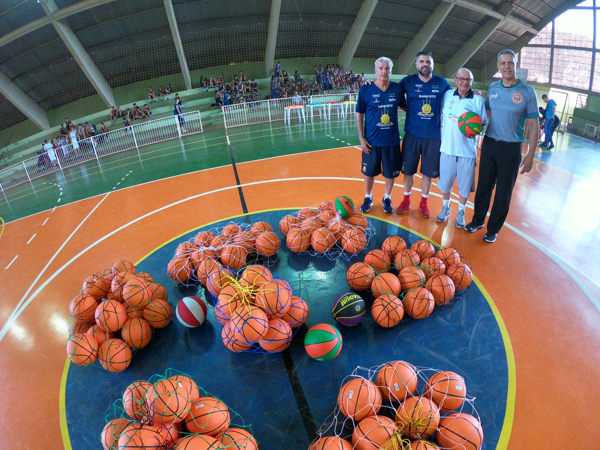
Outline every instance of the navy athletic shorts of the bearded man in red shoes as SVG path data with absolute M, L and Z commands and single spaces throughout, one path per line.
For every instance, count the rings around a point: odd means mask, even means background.
M 439 137 L 416 137 L 404 133 L 402 140 L 402 173 L 415 175 L 421 160 L 421 174 L 429 178 L 440 176 L 440 145 Z

